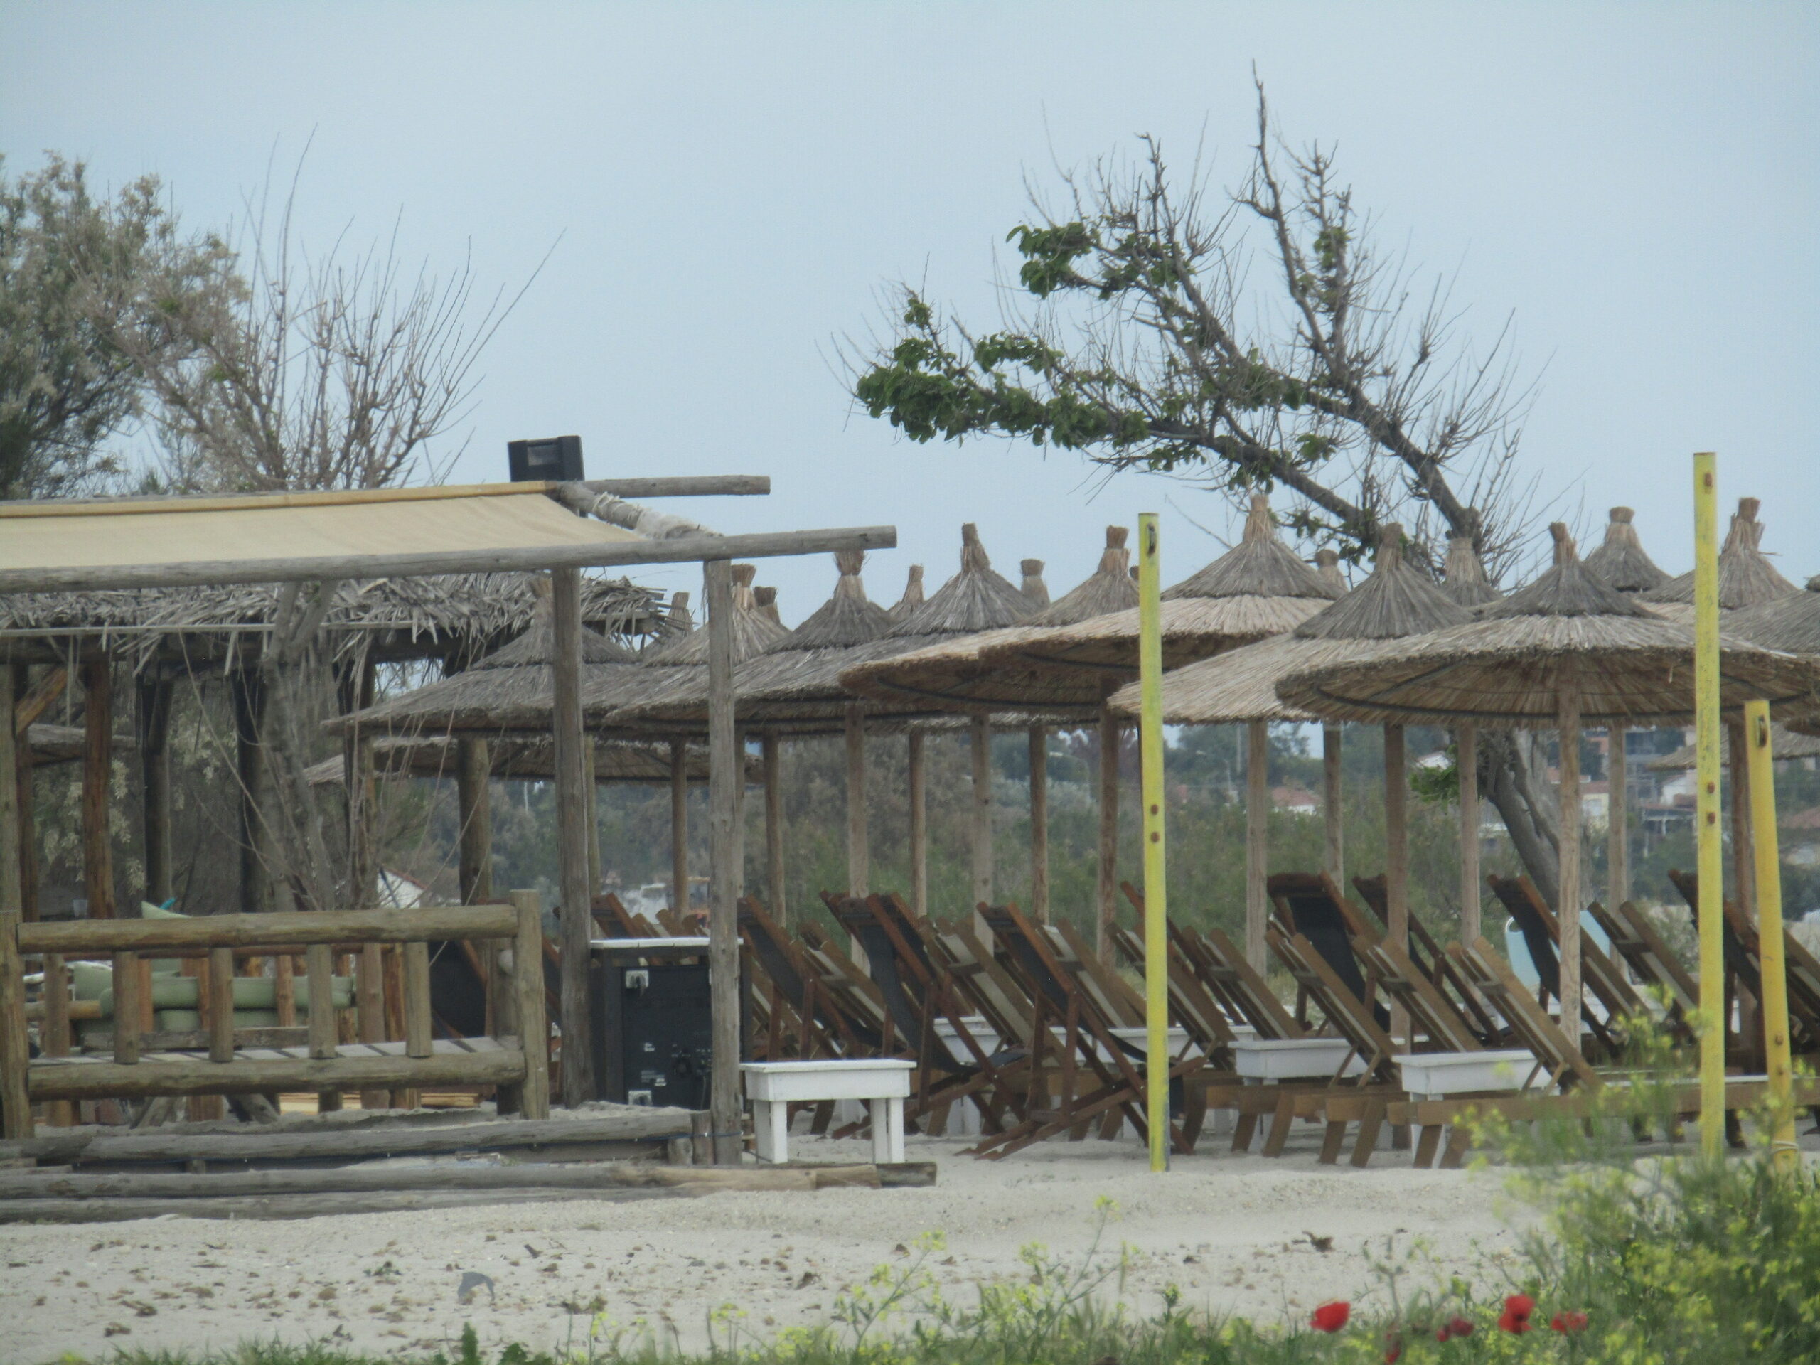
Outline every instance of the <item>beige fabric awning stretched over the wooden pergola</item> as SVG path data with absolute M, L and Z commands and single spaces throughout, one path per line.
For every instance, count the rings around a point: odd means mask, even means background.
M 0 571 L 344 559 L 639 541 L 546 484 L 0 506 Z

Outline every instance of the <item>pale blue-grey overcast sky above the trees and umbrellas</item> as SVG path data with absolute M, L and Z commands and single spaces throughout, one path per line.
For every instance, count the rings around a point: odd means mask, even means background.
M 1467 329 L 1509 315 L 1540 373 L 1525 460 L 1594 521 L 1631 502 L 1691 562 L 1689 453 L 1765 499 L 1802 581 L 1813 526 L 1820 15 L 1776 4 L 55 4 L 0 0 L 0 151 L 102 184 L 155 171 L 195 224 L 273 157 L 300 235 L 517 286 L 457 480 L 504 442 L 579 431 L 588 473 L 770 473 L 770 499 L 675 510 L 728 531 L 895 522 L 868 564 L 930 586 L 977 521 L 996 564 L 1061 592 L 1107 522 L 1165 513 L 1165 581 L 1230 535 L 1159 479 L 1096 491 L 1079 455 L 912 446 L 850 415 L 832 340 L 883 284 L 994 322 L 994 246 L 1025 177 L 1156 133 L 1243 169 L 1250 67 L 1292 140 L 1338 140 L 1390 248 L 1458 277 Z M 453 442 L 453 444 L 459 444 Z M 1165 502 L 1167 499 L 1167 502 Z M 1190 521 L 1192 519 L 1192 521 Z M 648 581 L 697 586 L 693 570 Z M 824 561 L 766 566 L 795 621 Z

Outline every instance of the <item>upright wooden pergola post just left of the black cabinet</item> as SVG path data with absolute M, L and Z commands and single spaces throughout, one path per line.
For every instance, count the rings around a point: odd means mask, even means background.
M 593 888 L 588 885 L 588 812 L 593 783 L 584 770 L 581 728 L 581 571 L 550 575 L 555 641 L 551 646 L 555 737 L 557 859 L 562 921 L 562 1103 L 595 1097 L 593 1048 L 588 1046 L 588 941 L 593 937 Z

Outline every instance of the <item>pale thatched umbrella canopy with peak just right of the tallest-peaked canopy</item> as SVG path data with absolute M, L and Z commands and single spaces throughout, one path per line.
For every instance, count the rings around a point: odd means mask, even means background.
M 1385 526 L 1378 562 L 1350 593 L 1303 621 L 1287 635 L 1203 659 L 1163 673 L 1163 719 L 1170 724 L 1238 724 L 1247 721 L 1310 721 L 1278 697 L 1276 684 L 1309 668 L 1372 657 L 1383 641 L 1461 624 L 1472 613 L 1449 599 L 1429 575 L 1403 562 L 1403 528 Z M 1112 697 L 1112 710 L 1138 715 L 1136 682 Z

